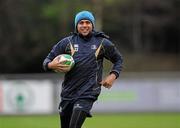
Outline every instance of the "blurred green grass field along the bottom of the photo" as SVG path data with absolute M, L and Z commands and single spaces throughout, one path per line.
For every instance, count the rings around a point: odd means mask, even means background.
M 59 116 L 0 116 L 0 128 L 59 128 Z M 83 128 L 180 128 L 180 113 L 94 114 Z

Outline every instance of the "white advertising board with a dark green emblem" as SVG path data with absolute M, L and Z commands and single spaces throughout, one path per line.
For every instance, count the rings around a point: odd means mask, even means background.
M 49 80 L 1 80 L 0 113 L 52 113 L 52 93 Z

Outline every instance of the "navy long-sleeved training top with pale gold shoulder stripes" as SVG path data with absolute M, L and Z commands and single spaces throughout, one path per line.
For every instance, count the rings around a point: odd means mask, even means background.
M 102 32 L 93 33 L 89 38 L 73 34 L 53 46 L 43 62 L 46 71 L 49 70 L 48 63 L 60 54 L 70 54 L 75 61 L 74 67 L 65 73 L 61 100 L 96 100 L 101 92 L 103 58 L 113 63 L 110 73 L 119 76 L 122 70 L 122 56 L 106 37 Z

